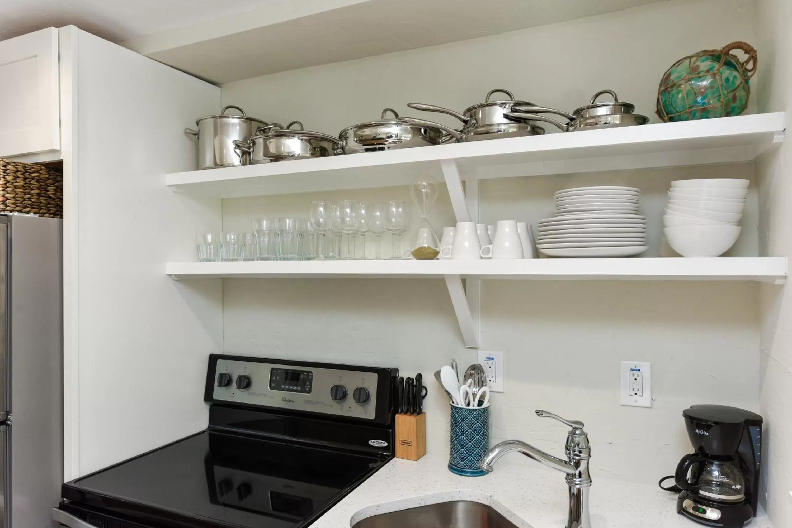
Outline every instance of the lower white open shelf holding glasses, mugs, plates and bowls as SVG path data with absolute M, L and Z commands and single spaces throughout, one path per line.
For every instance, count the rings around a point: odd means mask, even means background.
M 171 262 L 173 279 L 443 278 L 786 281 L 786 257 Z

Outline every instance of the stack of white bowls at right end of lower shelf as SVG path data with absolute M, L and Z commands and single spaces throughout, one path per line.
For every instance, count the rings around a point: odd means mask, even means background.
M 668 245 L 682 256 L 721 256 L 740 236 L 748 180 L 671 182 L 663 217 Z

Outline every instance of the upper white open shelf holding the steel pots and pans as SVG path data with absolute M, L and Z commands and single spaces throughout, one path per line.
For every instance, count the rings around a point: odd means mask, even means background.
M 462 179 L 751 161 L 783 139 L 784 112 L 452 143 L 166 175 L 174 190 L 233 198 L 409 184 L 416 174 Z

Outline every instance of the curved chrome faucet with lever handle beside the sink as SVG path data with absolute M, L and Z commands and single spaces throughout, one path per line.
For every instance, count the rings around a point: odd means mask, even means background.
M 566 528 L 591 528 L 592 523 L 588 519 L 588 488 L 592 485 L 592 477 L 588 473 L 588 459 L 592 456 L 592 450 L 588 446 L 588 435 L 583 431 L 584 424 L 577 420 L 564 420 L 552 412 L 536 411 L 536 416 L 553 418 L 572 427 L 566 436 L 567 460 L 554 457 L 520 440 L 506 440 L 493 446 L 482 462 L 478 462 L 478 467 L 491 473 L 494 469 L 493 464 L 498 458 L 510 451 L 520 451 L 528 458 L 563 471 L 566 473 L 566 484 L 569 486 L 569 519 L 566 521 Z

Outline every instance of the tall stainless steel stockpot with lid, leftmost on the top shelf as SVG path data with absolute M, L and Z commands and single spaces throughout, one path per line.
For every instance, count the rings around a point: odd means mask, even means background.
M 227 114 L 229 108 L 238 110 L 242 116 Z M 247 165 L 248 161 L 235 150 L 234 140 L 247 142 L 259 127 L 267 124 L 266 121 L 246 116 L 242 108 L 229 104 L 218 115 L 197 120 L 197 131 L 185 128 L 185 132 L 198 139 L 198 169 L 236 167 Z

